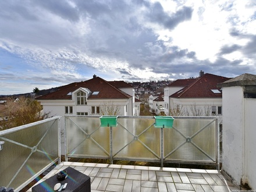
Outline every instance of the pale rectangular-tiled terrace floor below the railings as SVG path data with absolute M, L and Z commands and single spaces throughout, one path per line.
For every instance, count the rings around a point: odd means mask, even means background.
M 91 177 L 91 191 L 232 191 L 218 170 L 62 162 L 40 182 L 68 166 Z M 38 184 L 38 183 L 37 183 Z M 32 191 L 29 189 L 28 191 Z M 64 192 L 64 191 L 63 191 Z

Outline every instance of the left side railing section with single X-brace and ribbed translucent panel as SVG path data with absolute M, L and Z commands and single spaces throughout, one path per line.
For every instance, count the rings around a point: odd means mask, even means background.
M 0 131 L 0 186 L 23 189 L 42 172 L 60 161 L 59 119 Z

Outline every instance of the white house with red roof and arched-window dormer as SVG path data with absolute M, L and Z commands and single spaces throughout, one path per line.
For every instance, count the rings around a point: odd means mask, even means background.
M 134 89 L 125 81 L 93 79 L 67 84 L 58 91 L 37 98 L 51 115 L 100 115 L 102 105 L 120 108 L 118 115 L 140 114 L 135 108 Z M 136 110 L 135 110 L 136 109 Z

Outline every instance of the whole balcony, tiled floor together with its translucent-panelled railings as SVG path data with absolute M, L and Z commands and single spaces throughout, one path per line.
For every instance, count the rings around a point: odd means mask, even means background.
M 72 166 L 90 176 L 91 189 L 98 191 L 237 189 L 219 171 L 218 118 L 175 117 L 172 128 L 156 128 L 154 123 L 154 116 L 118 116 L 116 127 L 102 127 L 99 116 L 70 115 L 0 131 L 0 141 L 5 142 L 0 185 L 23 190 L 54 165 L 39 182 Z M 69 162 L 70 158 L 109 163 Z M 115 165 L 115 160 L 159 166 Z M 211 165 L 215 170 L 170 168 L 168 163 Z

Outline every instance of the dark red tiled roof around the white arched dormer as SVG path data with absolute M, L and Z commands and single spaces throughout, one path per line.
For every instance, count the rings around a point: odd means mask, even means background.
M 113 81 L 111 81 L 113 82 Z M 112 84 L 115 84 L 113 86 Z M 76 91 L 78 88 L 88 88 L 91 93 L 94 91 L 99 91 L 97 95 L 90 95 L 88 99 L 123 99 L 123 98 L 131 98 L 132 96 L 126 94 L 125 92 L 119 90 L 117 87 L 123 87 L 125 83 L 124 81 L 116 81 L 116 83 L 109 83 L 108 81 L 101 79 L 100 77 L 94 77 L 93 79 L 81 82 L 75 82 L 67 84 L 66 86 L 59 87 L 58 91 L 53 93 L 49 93 L 47 95 L 43 95 L 38 97 L 38 100 L 41 99 L 72 99 L 72 95 L 67 95 Z M 127 84 L 127 87 L 130 87 Z

